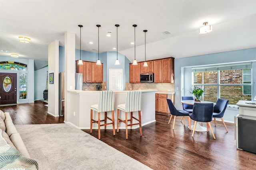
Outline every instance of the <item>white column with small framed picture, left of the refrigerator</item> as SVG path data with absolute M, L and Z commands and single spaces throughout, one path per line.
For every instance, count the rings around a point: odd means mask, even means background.
M 59 41 L 55 40 L 48 45 L 48 78 L 49 73 L 54 74 L 54 83 L 48 81 L 48 113 L 59 115 Z

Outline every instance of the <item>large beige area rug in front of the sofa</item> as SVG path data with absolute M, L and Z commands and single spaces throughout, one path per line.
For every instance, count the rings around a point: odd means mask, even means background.
M 40 170 L 149 170 L 70 124 L 15 125 Z

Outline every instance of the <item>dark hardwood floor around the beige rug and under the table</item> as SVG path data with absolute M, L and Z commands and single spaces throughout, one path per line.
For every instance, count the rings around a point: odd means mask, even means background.
M 10 112 L 16 125 L 63 123 L 63 117 L 47 114 L 48 107 L 44 104 L 35 101 L 34 104 L 18 104 L 0 109 Z M 129 129 L 127 140 L 124 129 L 120 129 L 115 136 L 111 129 L 102 129 L 100 140 L 154 170 L 256 169 L 256 154 L 236 149 L 234 124 L 226 123 L 227 133 L 222 122 L 217 121 L 216 127 L 212 122 L 216 139 L 213 139 L 211 132 L 195 132 L 194 137 L 191 137 L 192 131 L 187 127 L 187 119 L 184 126 L 178 117 L 172 130 L 173 119 L 168 125 L 169 118 L 156 114 L 155 123 L 142 127 L 142 137 L 139 129 Z M 90 133 L 88 129 L 83 131 Z M 98 139 L 98 130 L 93 130 L 91 135 Z

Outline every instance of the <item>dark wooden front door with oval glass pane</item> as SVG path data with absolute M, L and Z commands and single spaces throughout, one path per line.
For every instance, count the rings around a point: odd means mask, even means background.
M 0 73 L 0 104 L 17 103 L 17 74 Z

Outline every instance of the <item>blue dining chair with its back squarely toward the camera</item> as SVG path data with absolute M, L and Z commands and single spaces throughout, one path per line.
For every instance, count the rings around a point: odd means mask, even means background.
M 192 137 L 194 137 L 195 129 L 196 129 L 196 123 L 199 122 L 206 122 L 207 131 L 209 131 L 209 127 L 212 131 L 212 126 L 210 122 L 212 121 L 212 113 L 213 113 L 213 103 L 194 103 L 193 106 L 193 112 L 189 113 L 190 117 L 190 125 L 191 125 L 191 119 L 195 121 Z M 215 135 L 212 131 L 213 138 L 215 138 Z

